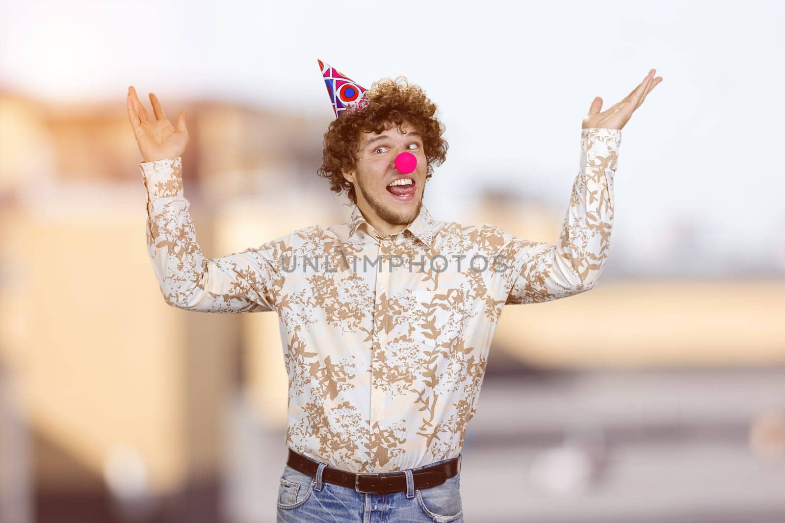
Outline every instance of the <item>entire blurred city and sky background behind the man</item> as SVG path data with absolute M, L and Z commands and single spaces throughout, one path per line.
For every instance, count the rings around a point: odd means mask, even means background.
M 351 212 L 316 176 L 333 118 L 317 58 L 366 87 L 406 74 L 439 105 L 433 214 L 547 242 L 579 118 L 657 68 L 623 130 L 601 283 L 502 314 L 464 515 L 785 521 L 782 5 L 369 6 L 345 35 L 332 9 L 4 6 L 0 521 L 275 521 L 277 318 L 164 303 L 125 95 L 188 110 L 184 194 L 224 256 Z

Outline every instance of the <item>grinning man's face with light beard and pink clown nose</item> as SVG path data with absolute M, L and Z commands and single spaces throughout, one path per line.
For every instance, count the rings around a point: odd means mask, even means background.
M 417 158 L 417 167 L 408 174 L 395 167 L 396 156 L 403 151 Z M 363 133 L 356 158 L 356 170 L 344 176 L 354 183 L 360 210 L 375 214 L 390 225 L 411 223 L 420 212 L 428 173 L 422 136 L 405 121 L 400 130 L 392 125 L 391 129 L 382 129 L 382 133 Z M 391 187 L 390 183 L 396 180 L 411 181 Z

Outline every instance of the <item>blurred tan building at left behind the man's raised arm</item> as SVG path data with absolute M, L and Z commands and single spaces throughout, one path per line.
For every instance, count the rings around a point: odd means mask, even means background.
M 316 176 L 325 121 L 185 107 L 185 196 L 206 256 L 348 216 Z M 162 301 L 124 104 L 53 107 L 3 95 L 0 111 L 0 362 L 29 409 L 30 513 L 220 521 L 230 394 L 246 390 L 260 416 L 266 407 L 273 424 L 285 420 L 276 318 L 191 314 Z M 22 485 L 18 467 L 3 470 L 3 485 Z

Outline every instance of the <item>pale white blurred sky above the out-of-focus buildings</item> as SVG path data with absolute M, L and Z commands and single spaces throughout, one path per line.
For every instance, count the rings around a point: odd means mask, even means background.
M 0 89 L 125 111 L 134 85 L 170 118 L 182 107 L 167 100 L 206 98 L 286 104 L 326 129 L 317 58 L 366 87 L 403 74 L 450 143 L 425 203 L 461 221 L 477 183 L 566 211 L 591 100 L 614 104 L 655 67 L 663 82 L 623 129 L 615 242 L 642 260 L 686 227 L 697 252 L 772 257 L 783 15 L 782 2 L 6 2 Z

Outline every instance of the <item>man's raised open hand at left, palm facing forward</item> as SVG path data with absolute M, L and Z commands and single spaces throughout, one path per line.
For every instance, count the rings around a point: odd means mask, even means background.
M 155 94 L 150 93 L 150 103 L 152 104 L 155 119 L 151 119 L 147 109 L 144 108 L 137 90 L 133 85 L 128 88 L 126 96 L 126 107 L 128 107 L 128 119 L 133 127 L 133 136 L 137 138 L 139 152 L 142 154 L 144 162 L 155 162 L 166 158 L 177 158 L 185 151 L 188 145 L 188 129 L 185 128 L 185 111 L 177 114 L 177 129 L 166 119 L 161 104 Z

